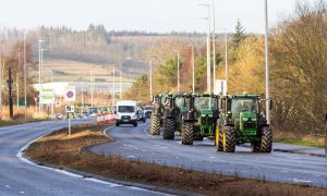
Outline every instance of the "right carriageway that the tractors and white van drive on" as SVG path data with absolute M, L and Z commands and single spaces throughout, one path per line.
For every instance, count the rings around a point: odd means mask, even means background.
M 90 150 L 164 166 L 327 187 L 327 161 L 323 157 L 278 151 L 253 154 L 247 147 L 237 147 L 235 154 L 217 152 L 209 140 L 183 146 L 178 139 L 150 136 L 148 126 L 149 122 L 138 123 L 137 127 L 112 127 L 107 134 L 117 143 Z

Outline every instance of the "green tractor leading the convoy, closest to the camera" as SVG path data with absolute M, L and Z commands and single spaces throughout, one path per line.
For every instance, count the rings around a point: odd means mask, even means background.
M 223 127 L 217 130 L 218 151 L 234 152 L 235 145 L 251 143 L 254 152 L 271 152 L 272 130 L 261 113 L 262 101 L 261 96 L 246 94 L 223 98 L 226 112 L 221 115 Z

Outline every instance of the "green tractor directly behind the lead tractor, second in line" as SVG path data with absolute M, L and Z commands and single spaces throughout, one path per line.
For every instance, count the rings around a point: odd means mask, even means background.
M 219 120 L 219 96 L 192 95 L 190 110 L 183 117 L 182 144 L 193 145 L 193 140 L 216 136 Z

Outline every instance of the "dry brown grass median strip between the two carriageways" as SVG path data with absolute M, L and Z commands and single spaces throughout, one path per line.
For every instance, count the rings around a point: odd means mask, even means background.
M 66 130 L 56 132 L 34 143 L 25 155 L 62 168 L 206 195 L 327 195 L 324 188 L 246 180 L 83 152 L 81 149 L 86 146 L 112 142 L 102 135 L 107 126 L 75 127 L 70 137 Z

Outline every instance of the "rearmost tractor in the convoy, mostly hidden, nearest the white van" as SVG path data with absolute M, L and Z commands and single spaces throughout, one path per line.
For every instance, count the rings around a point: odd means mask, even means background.
M 158 94 L 154 97 L 154 110 L 152 113 L 150 134 L 160 135 L 160 127 L 162 125 L 162 115 L 165 111 L 165 100 L 168 94 Z

